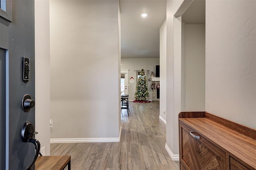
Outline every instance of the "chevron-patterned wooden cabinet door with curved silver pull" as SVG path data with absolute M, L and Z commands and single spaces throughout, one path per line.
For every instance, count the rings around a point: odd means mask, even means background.
M 180 122 L 181 162 L 191 170 L 226 170 L 226 153 Z

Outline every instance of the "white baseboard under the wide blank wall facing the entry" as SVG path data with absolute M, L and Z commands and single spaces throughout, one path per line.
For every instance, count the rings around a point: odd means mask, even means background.
M 120 142 L 122 126 L 118 138 L 51 138 L 50 143 L 89 143 L 89 142 Z

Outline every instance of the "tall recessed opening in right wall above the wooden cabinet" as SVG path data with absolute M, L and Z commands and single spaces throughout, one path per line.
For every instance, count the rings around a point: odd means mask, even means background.
M 181 111 L 205 110 L 205 5 L 205 0 L 184 1 L 174 15 L 174 53 L 181 59 Z

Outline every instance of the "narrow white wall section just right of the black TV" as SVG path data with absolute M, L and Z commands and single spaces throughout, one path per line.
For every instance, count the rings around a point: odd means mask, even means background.
M 166 20 L 160 28 L 160 117 L 166 121 Z

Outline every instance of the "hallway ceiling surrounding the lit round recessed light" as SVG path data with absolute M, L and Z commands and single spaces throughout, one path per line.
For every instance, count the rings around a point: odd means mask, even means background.
M 166 0 L 120 0 L 120 14 L 121 58 L 158 58 Z

